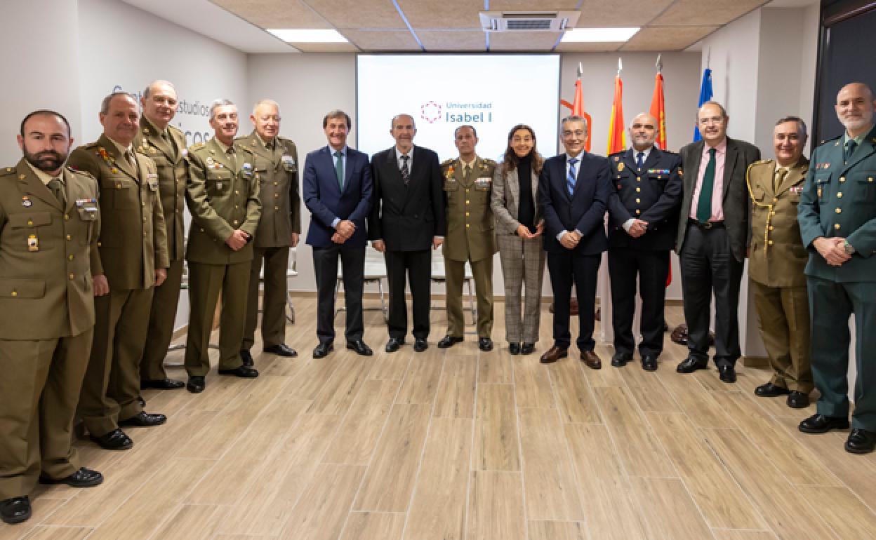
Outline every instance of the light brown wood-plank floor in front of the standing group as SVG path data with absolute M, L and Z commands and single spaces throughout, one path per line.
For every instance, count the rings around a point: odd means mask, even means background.
M 298 358 L 256 354 L 258 379 L 214 371 L 200 395 L 147 390 L 167 424 L 131 428 L 127 452 L 77 442 L 103 485 L 39 487 L 32 519 L 0 524 L 0 540 L 876 537 L 876 456 L 844 452 L 845 433 L 798 432 L 814 405 L 753 396 L 765 371 L 678 375 L 685 349 L 668 336 L 656 373 L 611 368 L 604 346 L 600 371 L 577 354 L 542 366 L 550 313 L 538 352 L 512 356 L 500 302 L 491 353 L 471 335 L 434 347 L 433 311 L 427 352 L 385 354 L 366 312 L 373 357 L 345 350 L 342 329 L 313 360 L 315 300 L 296 305 Z M 681 318 L 668 308 L 670 326 Z

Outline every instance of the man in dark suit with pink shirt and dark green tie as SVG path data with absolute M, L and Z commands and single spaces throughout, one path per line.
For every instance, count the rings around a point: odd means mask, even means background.
M 721 380 L 736 382 L 739 282 L 751 238 L 748 165 L 760 159 L 752 144 L 727 137 L 727 112 L 703 103 L 696 123 L 703 140 L 682 147 L 682 212 L 675 250 L 682 263 L 689 355 L 679 373 L 709 367 L 711 296 L 715 294 L 715 363 Z

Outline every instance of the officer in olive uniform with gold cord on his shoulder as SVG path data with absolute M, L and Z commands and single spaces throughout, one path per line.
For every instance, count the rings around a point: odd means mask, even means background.
M 803 158 L 806 124 L 796 116 L 773 130 L 775 159 L 748 167 L 752 196 L 752 243 L 748 277 L 758 313 L 760 337 L 774 375 L 754 389 L 761 397 L 788 396 L 788 407 L 809 405 L 809 299 L 803 268 L 809 255 L 800 238 L 797 205 L 809 160 Z

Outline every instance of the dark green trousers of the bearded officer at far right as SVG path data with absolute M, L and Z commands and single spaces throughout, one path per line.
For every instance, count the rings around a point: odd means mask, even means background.
M 876 431 L 876 283 L 837 283 L 807 276 L 812 319 L 812 375 L 822 396 L 817 410 L 829 417 L 849 414 L 849 318 L 856 342 L 853 428 Z

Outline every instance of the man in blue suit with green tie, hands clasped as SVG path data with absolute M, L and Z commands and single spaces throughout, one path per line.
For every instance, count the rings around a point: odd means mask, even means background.
M 335 340 L 337 258 L 343 268 L 347 306 L 347 348 L 371 356 L 362 340 L 362 288 L 365 270 L 365 219 L 371 211 L 371 166 L 368 156 L 347 146 L 350 116 L 332 110 L 322 119 L 329 145 L 307 154 L 304 162 L 304 204 L 313 214 L 307 244 L 314 249 L 317 322 L 314 358 L 332 350 Z

